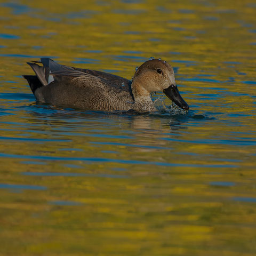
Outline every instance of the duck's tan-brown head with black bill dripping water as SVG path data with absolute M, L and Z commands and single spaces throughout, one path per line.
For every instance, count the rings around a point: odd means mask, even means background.
M 135 99 L 161 91 L 180 108 L 189 109 L 175 83 L 173 68 L 163 60 L 153 59 L 143 63 L 134 74 L 132 91 Z

